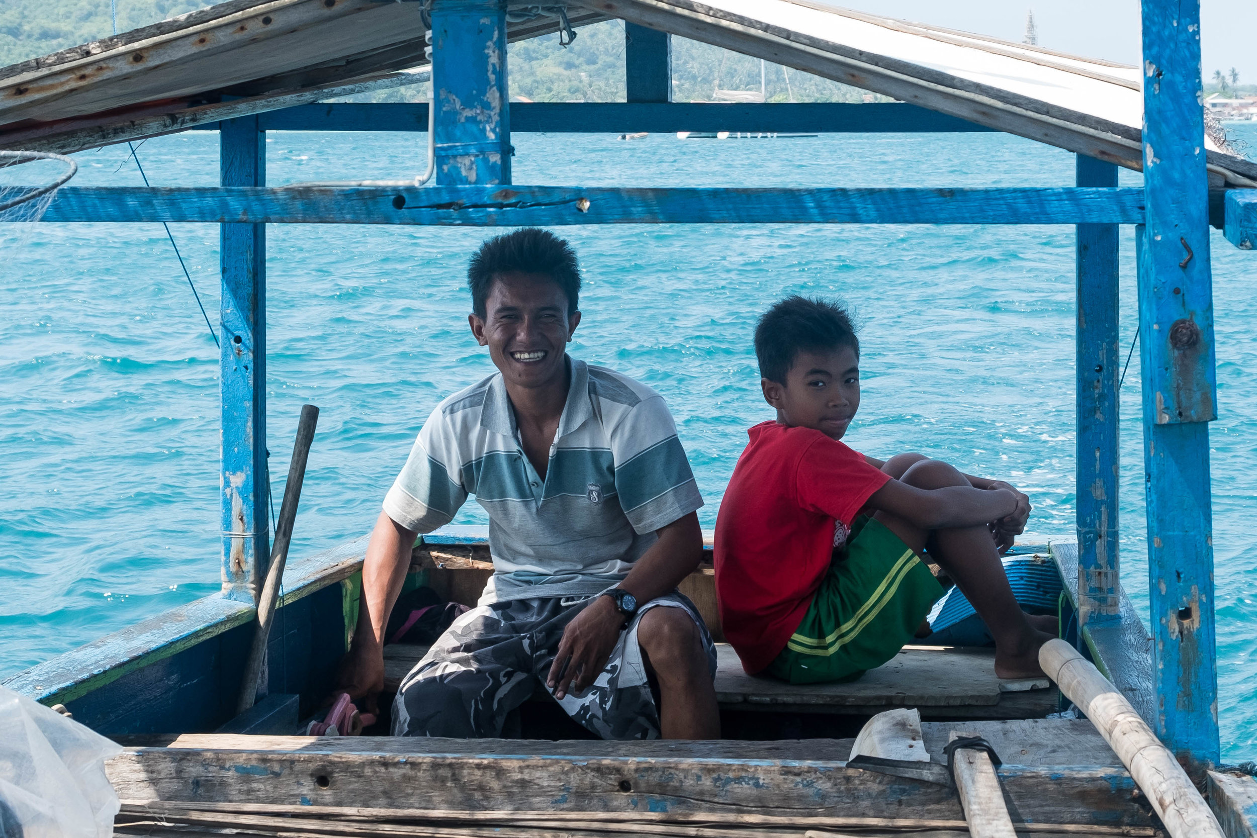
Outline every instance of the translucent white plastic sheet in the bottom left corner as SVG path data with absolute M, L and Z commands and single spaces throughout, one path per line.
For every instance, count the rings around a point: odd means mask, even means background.
M 122 748 L 0 686 L 0 838 L 109 838 L 118 795 L 104 760 Z

